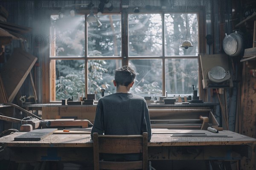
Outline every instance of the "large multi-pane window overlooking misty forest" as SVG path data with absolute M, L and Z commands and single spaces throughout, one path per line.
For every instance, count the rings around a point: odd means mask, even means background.
M 105 95 L 115 93 L 114 70 L 124 59 L 137 73 L 131 93 L 183 95 L 198 84 L 197 14 L 128 14 L 124 35 L 121 14 L 96 16 L 101 24 L 86 23 L 85 17 L 51 16 L 51 101 L 76 100 L 78 94 L 96 94 L 97 100 L 101 88 Z M 193 47 L 181 48 L 184 40 Z

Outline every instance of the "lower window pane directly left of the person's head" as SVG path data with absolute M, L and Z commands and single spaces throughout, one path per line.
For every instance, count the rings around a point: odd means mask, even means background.
M 116 93 L 113 85 L 114 70 L 122 66 L 121 60 L 88 60 L 88 94 L 101 97 L 101 88 L 105 88 L 105 96 Z

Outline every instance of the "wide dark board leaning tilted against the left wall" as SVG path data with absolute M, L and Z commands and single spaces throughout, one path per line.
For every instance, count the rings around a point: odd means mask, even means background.
M 15 48 L 11 57 L 3 66 L 2 80 L 8 96 L 8 102 L 12 102 L 21 85 L 25 81 L 37 58 L 20 48 Z

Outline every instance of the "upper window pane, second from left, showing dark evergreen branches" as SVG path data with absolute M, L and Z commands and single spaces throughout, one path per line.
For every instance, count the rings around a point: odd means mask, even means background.
M 88 56 L 121 56 L 121 15 L 102 15 L 99 23 L 88 23 Z

